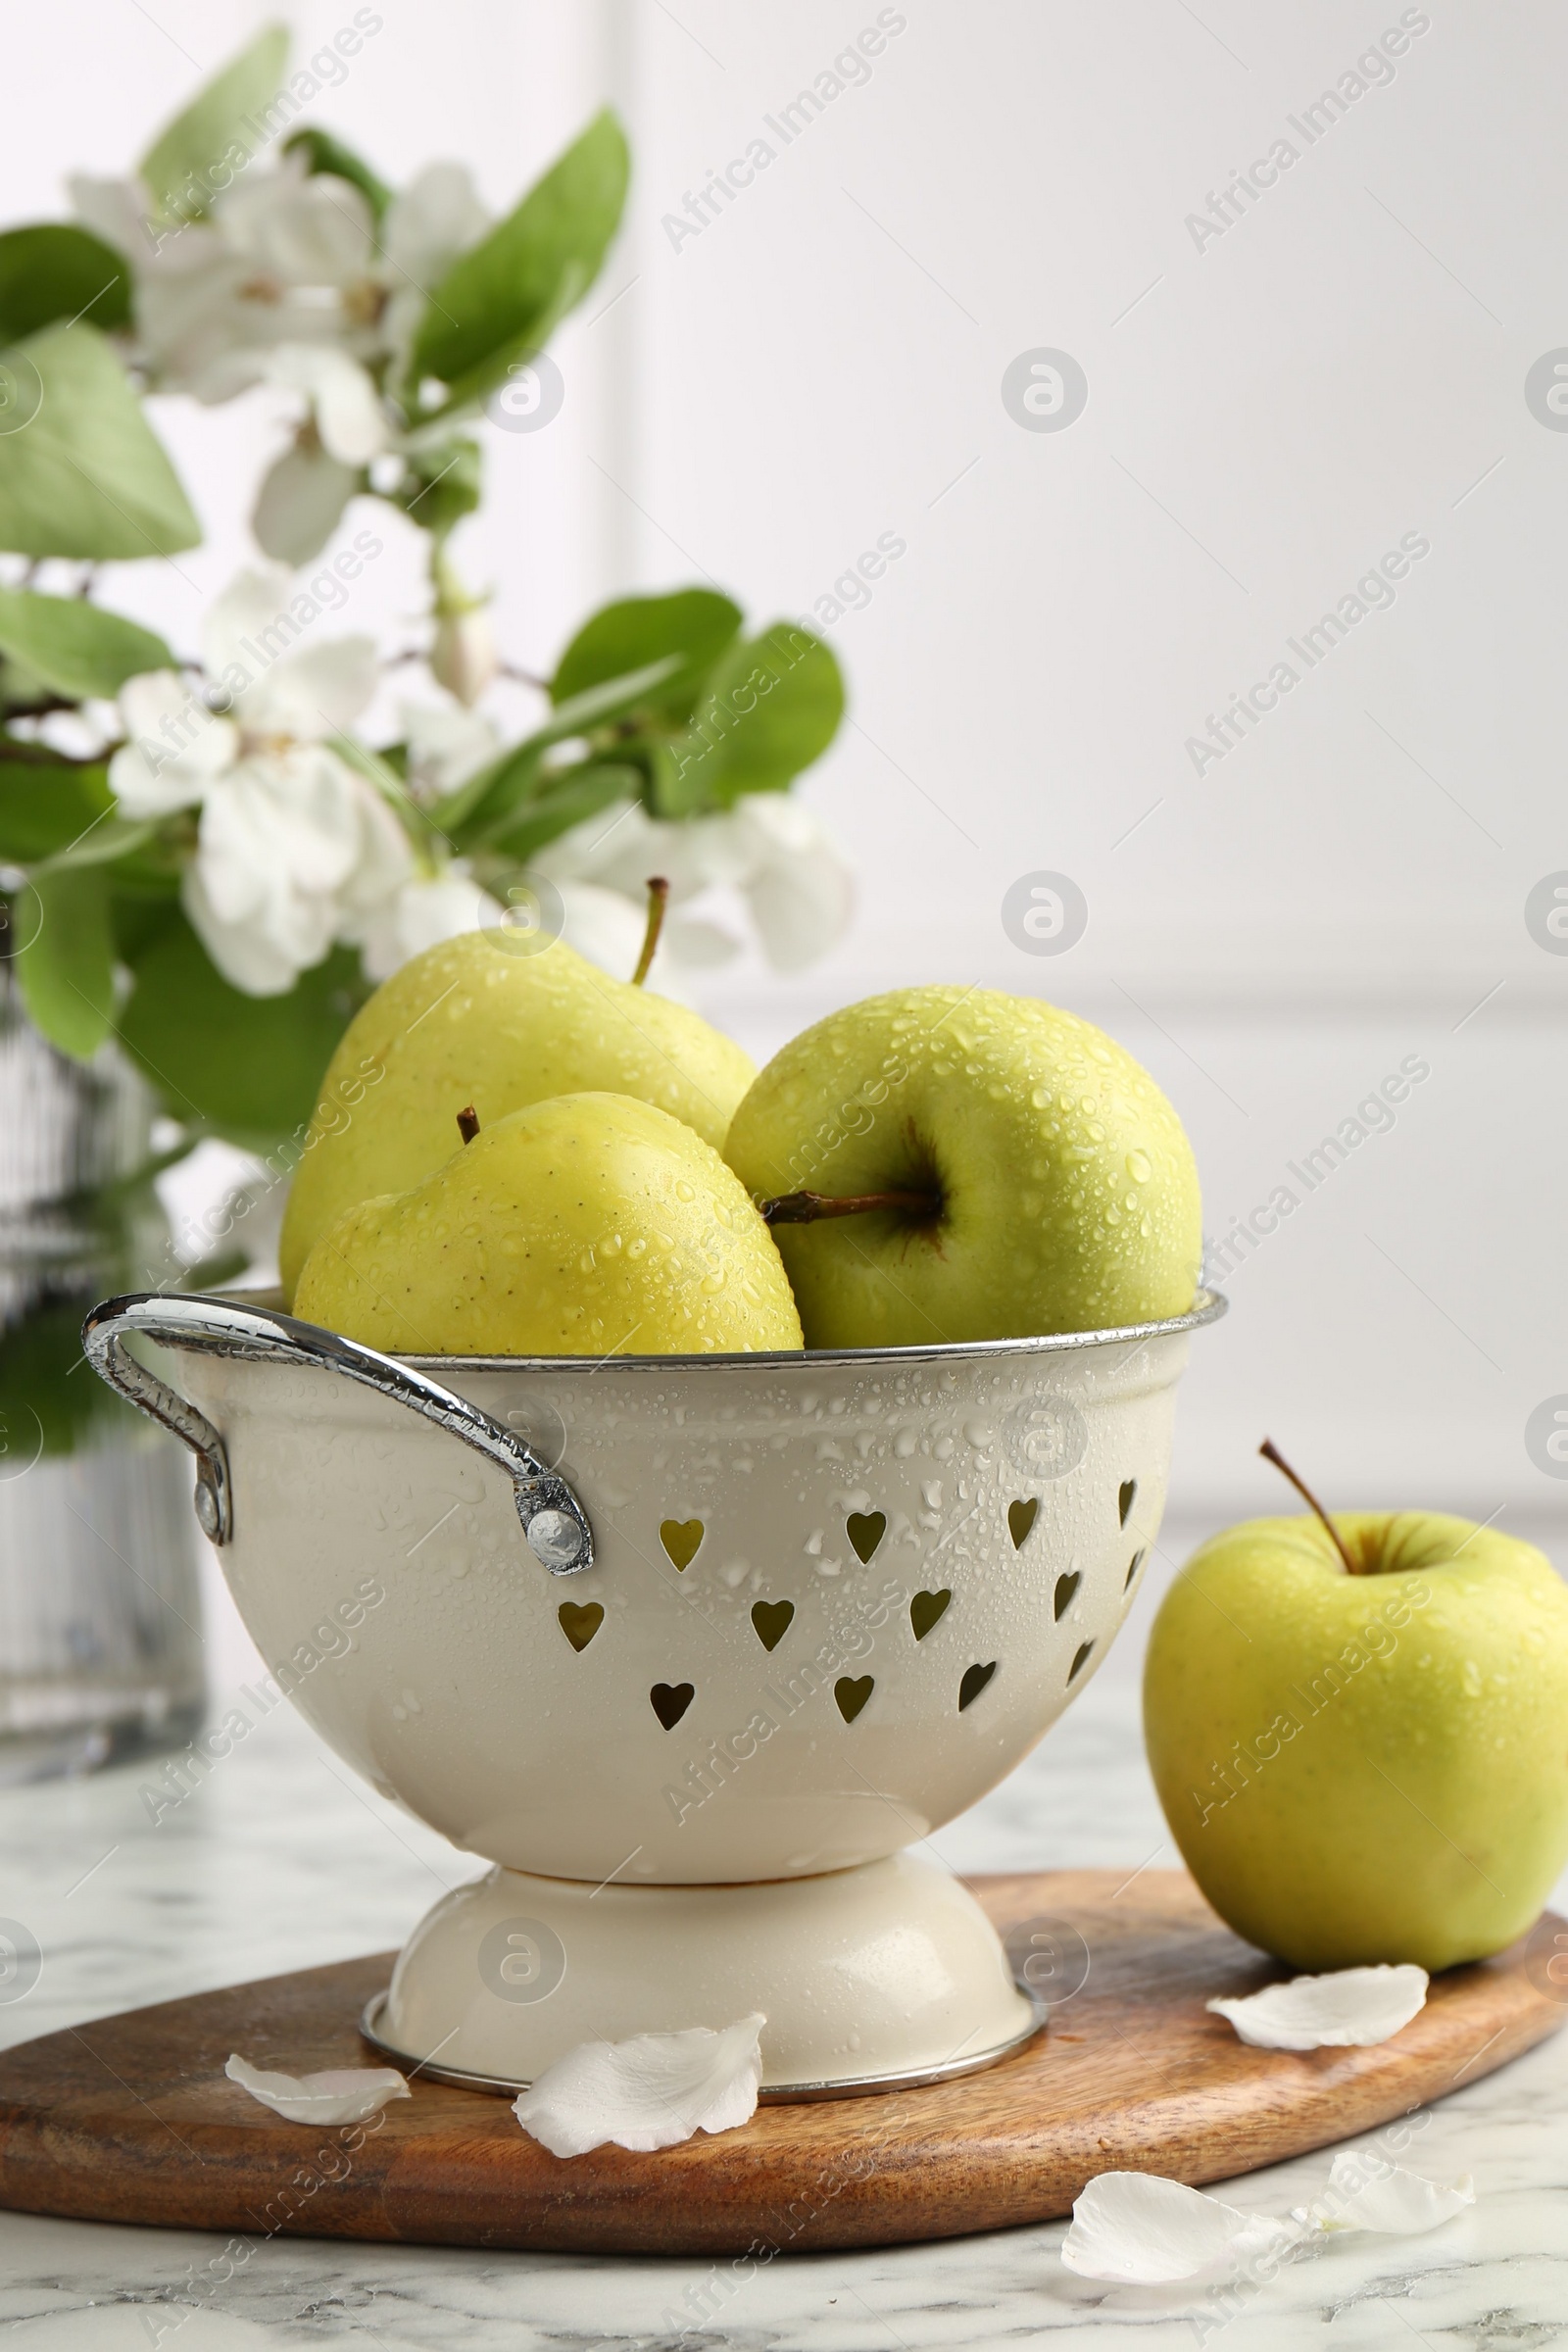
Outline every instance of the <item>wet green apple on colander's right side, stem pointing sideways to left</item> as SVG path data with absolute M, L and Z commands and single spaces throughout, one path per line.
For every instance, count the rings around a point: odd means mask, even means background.
M 1192 1308 L 1182 1124 L 1124 1047 L 1037 997 L 903 988 L 830 1014 L 762 1070 L 724 1157 L 773 1225 L 809 1348 Z

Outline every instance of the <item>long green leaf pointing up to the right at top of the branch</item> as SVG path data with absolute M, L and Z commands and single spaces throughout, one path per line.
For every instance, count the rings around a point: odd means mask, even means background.
M 628 176 L 625 132 L 604 111 L 498 228 L 458 254 L 425 303 L 411 358 L 414 381 L 440 376 L 449 388 L 442 414 L 541 350 L 583 299 L 621 223 Z

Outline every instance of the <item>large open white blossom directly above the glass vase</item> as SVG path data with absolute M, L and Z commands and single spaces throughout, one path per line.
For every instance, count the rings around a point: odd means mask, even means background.
M 108 781 L 127 816 L 197 807 L 183 906 L 247 995 L 284 995 L 334 938 L 367 936 L 414 875 L 381 793 L 329 746 L 376 689 L 369 637 L 299 642 L 280 567 L 240 574 L 202 630 L 223 710 L 172 673 L 127 682 Z M 158 731 L 153 731 L 158 729 Z

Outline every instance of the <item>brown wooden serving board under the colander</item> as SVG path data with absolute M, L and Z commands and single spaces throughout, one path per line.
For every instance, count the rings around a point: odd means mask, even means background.
M 1258 2051 L 1215 1992 L 1288 1973 L 1175 1870 L 971 1882 L 1001 1931 L 1067 1919 L 1091 1971 L 1051 2027 L 926 2091 L 759 2107 L 658 2154 L 562 2161 L 510 2100 L 414 2082 L 364 2126 L 287 2124 L 223 2077 L 369 2065 L 360 2009 L 390 1952 L 132 2009 L 0 2058 L 0 2206 L 268 2237 L 762 2256 L 957 2237 L 1065 2213 L 1093 2173 L 1204 2183 L 1324 2147 L 1476 2082 L 1568 2011 L 1523 1945 L 1432 1985 L 1380 2049 Z M 1561 1922 L 1559 1922 L 1561 1924 Z

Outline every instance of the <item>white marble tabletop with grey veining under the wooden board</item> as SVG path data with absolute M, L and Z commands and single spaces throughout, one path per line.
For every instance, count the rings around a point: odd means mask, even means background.
M 1166 1538 L 1178 1550 L 1173 1536 Z M 1180 1557 L 1180 1550 L 1178 1550 Z M 1152 1599 L 1152 1595 L 1150 1595 Z M 1140 1611 L 1147 1616 L 1147 1602 Z M 219 1625 L 223 1635 L 223 1625 Z M 1138 1630 L 1023 1771 L 936 1849 L 957 1870 L 1175 1860 L 1138 1740 Z M 221 1672 L 242 1665 L 233 1632 Z M 221 1675 L 219 1675 L 221 1679 Z M 397 1943 L 470 1856 L 371 1797 L 277 1710 L 160 1825 L 148 1771 L 0 1797 L 0 1912 L 38 1936 L 38 1985 L 0 2006 L 0 2042 L 247 1976 Z M 1443 2100 L 1422 2171 L 1474 2173 L 1472 2213 L 1432 2237 L 1354 2237 L 1298 2260 L 1225 2319 L 1201 2298 L 1074 2281 L 1063 2225 L 877 2253 L 780 2258 L 686 2338 L 686 2352 L 950 2352 L 1093 2340 L 1103 2352 L 1225 2345 L 1537 2352 L 1568 2345 L 1568 2034 Z M 1328 2173 L 1302 2157 L 1234 2204 L 1286 2211 Z M 0 2352 L 388 2352 L 668 2347 L 665 2312 L 712 2265 L 273 2239 L 228 2284 L 221 2239 L 0 2213 Z

